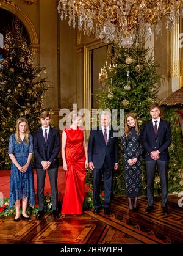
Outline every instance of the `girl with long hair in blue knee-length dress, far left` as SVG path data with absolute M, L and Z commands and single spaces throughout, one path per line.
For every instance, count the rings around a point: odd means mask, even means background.
M 9 157 L 12 160 L 10 175 L 9 206 L 15 203 L 16 216 L 14 221 L 20 221 L 20 199 L 22 199 L 21 219 L 30 220 L 26 214 L 27 202 L 35 204 L 34 174 L 30 164 L 33 154 L 33 139 L 29 135 L 27 120 L 19 118 L 16 121 L 15 134 L 10 136 Z

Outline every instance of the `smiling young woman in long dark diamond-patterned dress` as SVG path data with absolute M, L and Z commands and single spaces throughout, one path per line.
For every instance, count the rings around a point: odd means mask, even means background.
M 124 155 L 124 178 L 129 210 L 138 211 L 137 200 L 141 194 L 141 165 L 142 144 L 140 130 L 134 114 L 127 114 L 125 119 L 124 136 L 122 137 Z M 134 205 L 132 198 L 134 199 Z

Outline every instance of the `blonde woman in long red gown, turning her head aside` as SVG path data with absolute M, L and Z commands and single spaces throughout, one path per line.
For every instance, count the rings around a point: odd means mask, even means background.
M 62 133 L 62 159 L 66 183 L 61 213 L 76 215 L 83 213 L 88 154 L 84 128 L 81 126 L 82 116 L 73 111 L 71 120 L 71 125 Z

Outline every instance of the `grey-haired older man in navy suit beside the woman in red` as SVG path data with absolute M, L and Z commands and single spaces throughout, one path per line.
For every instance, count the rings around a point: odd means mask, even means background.
M 110 112 L 103 111 L 101 126 L 97 130 L 91 130 L 88 142 L 89 167 L 93 170 L 94 214 L 99 214 L 101 210 L 99 196 L 102 176 L 104 177 L 105 194 L 104 214 L 112 214 L 109 207 L 112 192 L 112 174 L 114 169 L 118 169 L 118 138 L 114 136 L 114 131 L 110 130 L 110 119 Z

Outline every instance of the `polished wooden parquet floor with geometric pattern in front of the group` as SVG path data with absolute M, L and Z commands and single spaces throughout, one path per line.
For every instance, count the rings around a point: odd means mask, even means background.
M 81 216 L 46 214 L 40 221 L 14 222 L 14 216 L 0 218 L 1 244 L 181 244 L 183 243 L 183 207 L 178 196 L 170 196 L 170 214 L 163 215 L 160 197 L 155 198 L 154 212 L 145 213 L 146 197 L 138 201 L 138 213 L 128 210 L 125 196 L 114 197 L 113 216 L 92 210 Z

